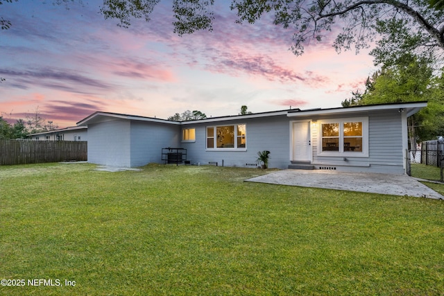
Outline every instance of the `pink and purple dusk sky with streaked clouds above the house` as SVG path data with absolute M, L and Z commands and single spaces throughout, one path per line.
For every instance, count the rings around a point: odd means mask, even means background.
M 0 31 L 3 118 L 13 123 L 38 107 L 65 128 L 96 111 L 167 119 L 185 110 L 234 115 L 241 105 L 251 112 L 341 107 L 376 69 L 368 51 L 338 54 L 332 40 L 293 55 L 291 30 L 271 17 L 235 24 L 229 1 L 216 1 L 212 32 L 182 37 L 173 33 L 171 1 L 130 28 L 103 19 L 102 3 L 0 6 L 12 21 Z

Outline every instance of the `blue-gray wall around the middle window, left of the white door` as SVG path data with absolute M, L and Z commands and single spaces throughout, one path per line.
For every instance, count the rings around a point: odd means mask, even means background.
M 207 150 L 207 126 L 246 124 L 246 151 Z M 196 141 L 181 143 L 187 148 L 188 159 L 192 164 L 209 164 L 217 162 L 219 166 L 257 166 L 257 152 L 271 152 L 270 168 L 287 168 L 289 165 L 289 119 L 287 116 L 271 116 L 267 118 L 240 119 L 236 121 L 219 121 L 217 123 L 192 123 L 182 128 L 195 128 Z

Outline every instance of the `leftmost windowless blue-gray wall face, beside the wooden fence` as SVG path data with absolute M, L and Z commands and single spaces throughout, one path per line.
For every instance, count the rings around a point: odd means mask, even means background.
M 88 125 L 88 162 L 130 166 L 130 121 L 113 120 Z

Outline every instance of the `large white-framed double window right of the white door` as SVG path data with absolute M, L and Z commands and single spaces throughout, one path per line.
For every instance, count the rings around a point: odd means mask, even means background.
M 318 155 L 368 157 L 368 117 L 319 121 Z

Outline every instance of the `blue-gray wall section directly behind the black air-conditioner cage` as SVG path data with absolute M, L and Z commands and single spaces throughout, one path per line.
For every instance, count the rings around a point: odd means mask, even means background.
M 131 166 L 162 163 L 162 148 L 180 147 L 180 125 L 131 122 Z

